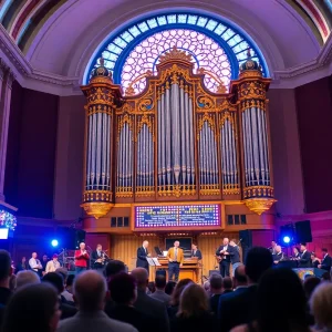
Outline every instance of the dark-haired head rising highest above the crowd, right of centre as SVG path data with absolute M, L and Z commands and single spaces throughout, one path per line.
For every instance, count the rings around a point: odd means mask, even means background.
M 263 272 L 270 269 L 273 259 L 270 250 L 263 247 L 252 247 L 246 258 L 246 274 L 249 283 L 257 283 Z

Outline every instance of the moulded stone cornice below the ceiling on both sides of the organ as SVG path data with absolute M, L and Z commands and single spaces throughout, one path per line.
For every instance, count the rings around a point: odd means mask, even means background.
M 1 24 L 0 50 L 4 54 L 4 62 L 7 62 L 7 65 L 12 68 L 17 80 L 23 87 L 58 95 L 81 94 L 77 89 L 81 84 L 81 77 L 68 77 L 33 69 Z M 271 87 L 294 89 L 305 83 L 328 76 L 332 73 L 331 63 L 332 35 L 330 35 L 317 59 L 283 71 L 273 71 Z

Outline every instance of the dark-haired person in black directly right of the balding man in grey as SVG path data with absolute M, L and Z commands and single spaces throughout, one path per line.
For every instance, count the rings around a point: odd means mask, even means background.
M 137 298 L 136 280 L 127 273 L 118 273 L 108 282 L 108 291 L 115 305 L 110 312 L 112 319 L 128 323 L 139 332 L 155 331 L 157 322 L 143 312 L 136 310 L 133 304 Z

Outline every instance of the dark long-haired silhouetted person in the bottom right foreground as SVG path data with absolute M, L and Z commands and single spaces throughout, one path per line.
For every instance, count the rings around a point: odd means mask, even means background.
M 231 332 L 310 332 L 305 294 L 298 274 L 290 269 L 270 269 L 256 293 L 257 317 Z

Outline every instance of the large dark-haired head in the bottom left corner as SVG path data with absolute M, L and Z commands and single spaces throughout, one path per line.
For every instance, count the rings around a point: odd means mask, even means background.
M 24 331 L 27 326 L 33 326 L 34 332 L 54 332 L 60 315 L 54 287 L 46 283 L 29 284 L 19 289 L 10 299 L 2 331 Z

